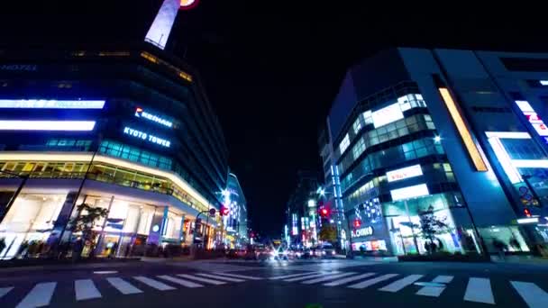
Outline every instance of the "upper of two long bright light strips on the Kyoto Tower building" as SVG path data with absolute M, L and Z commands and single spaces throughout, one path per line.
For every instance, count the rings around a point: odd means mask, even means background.
M 103 109 L 105 101 L 59 101 L 55 99 L 0 99 L 0 108 Z

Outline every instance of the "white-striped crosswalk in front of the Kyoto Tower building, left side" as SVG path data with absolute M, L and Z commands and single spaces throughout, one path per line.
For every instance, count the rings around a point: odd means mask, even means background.
M 77 279 L 70 286 L 74 289 L 74 300 L 76 302 L 103 298 L 109 294 L 107 289 L 114 289 L 117 294 L 130 295 L 142 294 L 148 291 L 171 291 L 180 287 L 201 288 L 214 285 L 225 285 L 231 283 L 243 283 L 262 279 L 259 276 L 236 275 L 223 272 L 191 273 L 191 274 L 170 274 L 158 276 L 108 276 L 105 279 Z M 67 282 L 41 282 L 32 286 L 30 290 L 15 292 L 23 286 L 10 285 L 0 287 L 0 306 L 5 301 L 13 303 L 16 308 L 31 308 L 48 306 L 51 303 L 59 285 L 67 286 Z M 28 288 L 28 287 L 27 287 Z M 107 292 L 105 292 L 107 291 Z M 10 296 L 14 298 L 10 299 Z

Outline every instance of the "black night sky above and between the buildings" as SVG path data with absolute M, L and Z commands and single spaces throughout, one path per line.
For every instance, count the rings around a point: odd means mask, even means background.
M 161 0 L 24 3 L 0 10 L 0 44 L 141 40 Z M 396 46 L 548 50 L 538 8 L 286 3 L 202 0 L 179 13 L 168 45 L 200 71 L 251 227 L 273 237 L 297 169 L 321 170 L 317 134 L 346 68 Z

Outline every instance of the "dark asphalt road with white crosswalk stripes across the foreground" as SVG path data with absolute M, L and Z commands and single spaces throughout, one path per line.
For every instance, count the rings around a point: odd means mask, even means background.
M 434 283 L 433 283 L 434 282 Z M 0 271 L 0 307 L 548 307 L 548 267 L 187 261 Z

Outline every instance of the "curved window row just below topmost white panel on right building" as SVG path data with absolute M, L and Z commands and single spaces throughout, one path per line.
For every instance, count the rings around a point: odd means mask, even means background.
M 341 173 L 358 159 L 365 149 L 371 146 L 395 140 L 416 131 L 435 130 L 434 122 L 429 114 L 415 114 L 406 119 L 392 122 L 388 125 L 379 127 L 376 130 L 364 133 L 360 140 L 352 148 L 352 155 L 346 155 L 339 163 Z

